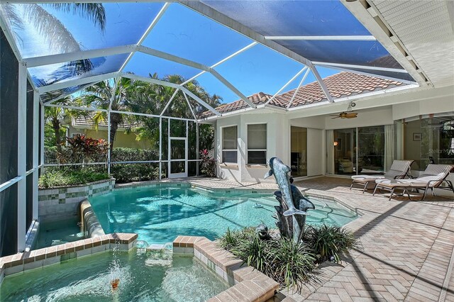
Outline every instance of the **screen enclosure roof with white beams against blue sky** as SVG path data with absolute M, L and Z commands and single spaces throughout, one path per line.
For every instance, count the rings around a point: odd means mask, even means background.
M 311 72 L 328 102 L 335 99 L 323 67 L 428 82 L 398 62 L 345 1 L 104 1 L 91 15 L 82 6 L 94 1 L 0 2 L 0 26 L 45 105 L 114 77 L 172 86 L 216 116 L 221 113 L 185 84 L 196 79 L 212 93 L 223 86 L 255 108 L 243 79 L 282 82 L 272 92 L 279 94 L 301 86 Z M 155 73 L 187 81 L 150 77 Z

